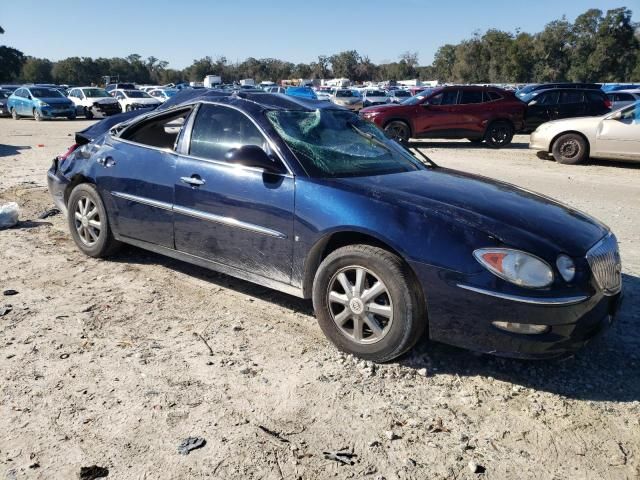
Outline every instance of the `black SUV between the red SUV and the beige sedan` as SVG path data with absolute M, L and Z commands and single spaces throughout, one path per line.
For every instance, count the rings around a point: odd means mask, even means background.
M 538 90 L 527 103 L 524 131 L 531 132 L 549 120 L 603 115 L 609 111 L 611 102 L 601 90 Z

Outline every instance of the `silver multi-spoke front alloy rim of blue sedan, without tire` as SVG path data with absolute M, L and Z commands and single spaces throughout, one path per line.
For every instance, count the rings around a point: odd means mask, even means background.
M 340 332 L 359 344 L 379 342 L 393 323 L 387 286 L 370 270 L 350 266 L 329 281 L 327 304 Z

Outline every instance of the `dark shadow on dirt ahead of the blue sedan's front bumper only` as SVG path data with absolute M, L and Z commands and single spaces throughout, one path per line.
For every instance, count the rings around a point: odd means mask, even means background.
M 425 338 L 398 363 L 427 368 L 434 376 L 491 377 L 578 400 L 640 401 L 640 278 L 622 277 L 624 298 L 615 323 L 571 358 L 499 358 Z

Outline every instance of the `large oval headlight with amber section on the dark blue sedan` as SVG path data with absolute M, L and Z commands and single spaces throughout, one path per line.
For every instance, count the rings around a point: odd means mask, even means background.
M 553 270 L 540 258 L 510 248 L 479 248 L 473 256 L 494 275 L 521 287 L 543 288 L 553 282 Z

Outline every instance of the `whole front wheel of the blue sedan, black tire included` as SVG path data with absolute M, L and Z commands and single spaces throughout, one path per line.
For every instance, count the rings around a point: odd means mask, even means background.
M 379 293 L 373 293 L 380 285 Z M 374 296 L 367 298 L 367 292 Z M 427 324 L 424 299 L 408 267 L 396 255 L 370 245 L 342 247 L 322 261 L 313 281 L 313 308 L 336 347 L 374 362 L 405 353 Z

